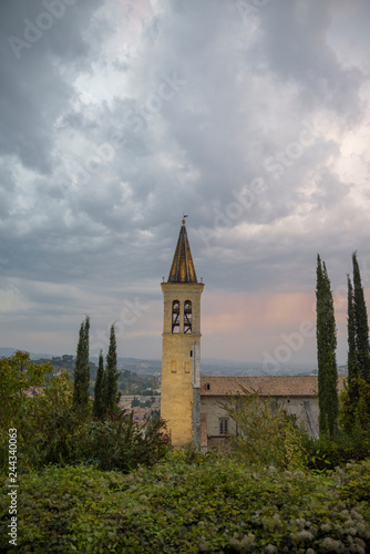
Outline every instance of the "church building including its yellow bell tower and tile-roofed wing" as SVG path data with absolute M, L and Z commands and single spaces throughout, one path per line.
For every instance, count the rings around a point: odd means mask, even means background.
M 243 389 L 273 398 L 297 417 L 311 437 L 318 437 L 317 376 L 201 377 L 201 296 L 185 218 L 164 296 L 161 417 L 166 420 L 175 447 L 188 442 L 207 450 L 222 447 L 236 433 L 223 403 Z M 343 378 L 338 379 L 339 390 Z

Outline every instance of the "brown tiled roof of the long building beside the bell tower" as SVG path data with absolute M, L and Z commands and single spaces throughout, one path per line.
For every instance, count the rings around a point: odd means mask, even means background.
M 343 379 L 338 377 L 339 391 L 343 388 Z M 203 397 L 243 393 L 241 388 L 263 397 L 316 397 L 318 379 L 317 376 L 201 377 Z

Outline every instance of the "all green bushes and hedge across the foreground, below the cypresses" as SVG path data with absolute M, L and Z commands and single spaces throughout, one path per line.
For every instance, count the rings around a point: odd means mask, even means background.
M 18 359 L 4 363 L 16 370 Z M 33 368 L 43 393 L 11 410 L 19 429 L 17 552 L 369 550 L 370 461 L 346 464 L 353 453 L 370 458 L 370 440 L 362 452 L 360 442 L 354 452 L 345 442 L 335 451 L 325 435 L 318 451 L 282 410 L 250 394 L 229 406 L 244 435 L 230 454 L 172 452 L 162 421 L 140 429 L 126 412 L 94 419 L 73 408 L 68 373 L 48 379 L 47 369 Z M 343 466 L 330 471 L 337 461 Z M 2 522 L 8 510 L 4 494 Z M 3 534 L 0 550 L 8 546 Z

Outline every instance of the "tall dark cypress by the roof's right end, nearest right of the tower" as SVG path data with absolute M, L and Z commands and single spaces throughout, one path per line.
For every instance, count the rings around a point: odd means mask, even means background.
M 336 360 L 336 319 L 330 280 L 325 263 L 317 257 L 317 358 L 319 428 L 321 433 L 332 437 L 338 420 L 338 372 Z

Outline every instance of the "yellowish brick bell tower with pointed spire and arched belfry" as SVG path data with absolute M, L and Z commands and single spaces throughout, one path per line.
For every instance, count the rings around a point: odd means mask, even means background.
M 164 296 L 161 417 L 174 445 L 201 442 L 201 295 L 185 216 Z

